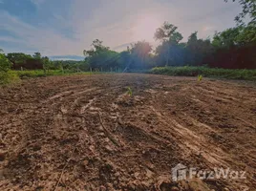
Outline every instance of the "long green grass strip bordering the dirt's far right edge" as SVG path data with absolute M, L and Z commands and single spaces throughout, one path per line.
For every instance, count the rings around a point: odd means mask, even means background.
M 207 67 L 157 67 L 150 70 L 151 74 L 167 74 L 174 76 L 219 77 L 227 79 L 256 80 L 256 70 L 231 70 Z

